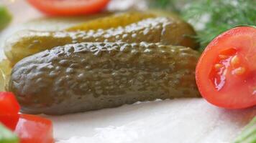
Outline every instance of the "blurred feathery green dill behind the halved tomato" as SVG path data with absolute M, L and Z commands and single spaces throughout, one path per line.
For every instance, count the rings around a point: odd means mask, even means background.
M 256 0 L 151 0 L 161 9 L 173 9 L 191 23 L 201 51 L 224 31 L 240 25 L 256 25 Z M 173 8 L 175 7 L 175 8 Z

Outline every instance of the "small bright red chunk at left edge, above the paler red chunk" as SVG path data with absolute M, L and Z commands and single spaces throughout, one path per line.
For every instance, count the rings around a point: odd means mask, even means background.
M 0 92 L 0 114 L 18 114 L 19 103 L 12 92 Z

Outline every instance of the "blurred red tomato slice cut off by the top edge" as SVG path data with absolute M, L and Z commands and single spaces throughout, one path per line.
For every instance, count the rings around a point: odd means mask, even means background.
M 27 0 L 42 12 L 50 15 L 94 14 L 104 9 L 110 0 Z

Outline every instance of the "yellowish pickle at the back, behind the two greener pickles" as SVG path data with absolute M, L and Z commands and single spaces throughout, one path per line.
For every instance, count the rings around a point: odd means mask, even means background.
M 142 19 L 147 19 L 150 17 L 155 17 L 154 14 L 148 14 L 144 12 L 127 12 L 123 14 L 114 14 L 112 16 L 106 16 L 104 18 L 93 19 L 91 21 L 86 21 L 82 24 L 72 26 L 66 31 L 88 31 L 97 29 L 109 29 L 116 28 L 118 26 L 127 26 L 129 24 L 141 21 Z

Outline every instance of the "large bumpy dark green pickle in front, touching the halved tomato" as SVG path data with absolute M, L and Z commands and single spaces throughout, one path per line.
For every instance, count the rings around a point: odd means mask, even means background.
M 199 97 L 198 52 L 162 44 L 81 43 L 19 61 L 9 91 L 22 112 L 69 114 L 138 101 Z

